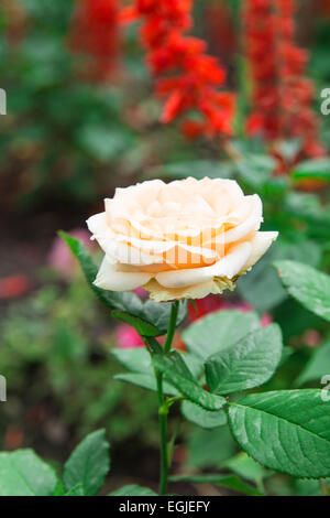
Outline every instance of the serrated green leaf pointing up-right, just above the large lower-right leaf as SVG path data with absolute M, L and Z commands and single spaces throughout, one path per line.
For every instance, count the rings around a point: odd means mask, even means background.
M 265 384 L 282 357 L 282 334 L 277 324 L 253 331 L 232 347 L 217 353 L 206 363 L 211 392 L 231 393 Z

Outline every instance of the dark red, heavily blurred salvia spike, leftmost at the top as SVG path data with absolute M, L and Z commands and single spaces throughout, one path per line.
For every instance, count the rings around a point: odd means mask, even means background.
M 107 80 L 119 52 L 118 0 L 77 0 L 69 45 L 89 57 L 88 76 Z

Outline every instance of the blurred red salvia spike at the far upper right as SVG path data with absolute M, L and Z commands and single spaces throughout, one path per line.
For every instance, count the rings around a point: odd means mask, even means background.
M 249 133 L 262 133 L 271 142 L 299 139 L 299 158 L 323 155 L 312 110 L 314 85 L 305 77 L 308 53 L 295 44 L 295 0 L 244 3 L 254 105 Z

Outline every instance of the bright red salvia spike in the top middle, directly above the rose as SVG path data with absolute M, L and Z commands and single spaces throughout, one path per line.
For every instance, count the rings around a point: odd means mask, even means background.
M 226 72 L 206 54 L 206 43 L 186 32 L 191 28 L 191 0 L 135 0 L 121 11 L 122 23 L 143 20 L 141 41 L 155 76 L 155 91 L 164 97 L 164 123 L 183 117 L 188 138 L 232 132 L 234 97 L 220 93 Z M 188 117 L 196 112 L 199 120 Z

